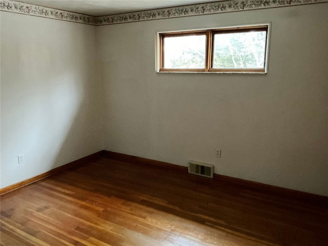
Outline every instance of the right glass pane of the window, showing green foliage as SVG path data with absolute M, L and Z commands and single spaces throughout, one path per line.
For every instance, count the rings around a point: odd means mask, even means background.
M 264 68 L 265 31 L 214 35 L 213 68 Z

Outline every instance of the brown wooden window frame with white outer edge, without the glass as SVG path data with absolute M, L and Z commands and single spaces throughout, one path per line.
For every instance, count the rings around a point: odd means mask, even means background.
M 270 30 L 271 24 L 258 24 L 258 25 L 246 25 L 246 26 L 234 26 L 234 27 L 221 27 L 211 29 L 199 29 L 199 30 L 186 30 L 186 31 L 169 31 L 169 32 L 157 32 L 156 33 L 156 72 L 183 72 L 183 73 L 261 73 L 268 72 L 268 60 L 269 60 L 269 43 L 270 43 Z M 237 69 L 222 69 L 213 68 L 214 58 L 214 35 L 218 33 L 238 33 L 245 31 L 265 31 L 265 51 L 264 51 L 264 66 L 263 68 L 237 68 Z M 187 36 L 187 35 L 204 35 L 206 34 L 206 56 L 205 56 L 205 68 L 204 69 L 171 69 L 164 68 L 164 38 L 174 36 Z

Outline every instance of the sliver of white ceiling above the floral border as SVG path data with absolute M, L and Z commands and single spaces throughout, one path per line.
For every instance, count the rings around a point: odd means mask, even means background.
M 182 5 L 218 2 L 218 0 L 14 0 L 92 16 L 121 14 Z

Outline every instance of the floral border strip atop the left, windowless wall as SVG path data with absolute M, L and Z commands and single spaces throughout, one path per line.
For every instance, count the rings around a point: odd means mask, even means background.
M 9 0 L 0 0 L 0 11 L 13 12 L 19 14 L 27 14 L 50 19 L 66 20 L 68 22 L 76 22 L 88 25 L 95 25 L 95 17 L 85 14 L 78 14 L 58 9 L 50 9 L 46 7 L 23 4 Z

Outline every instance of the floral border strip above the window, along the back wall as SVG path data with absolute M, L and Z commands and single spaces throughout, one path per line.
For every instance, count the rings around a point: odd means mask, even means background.
M 167 19 L 195 15 L 219 14 L 227 12 L 288 7 L 305 4 L 326 3 L 327 0 L 226 0 L 222 2 L 155 9 L 126 14 L 96 17 L 96 26 L 119 23 L 141 22 L 144 20 Z

